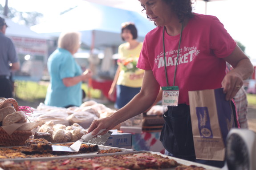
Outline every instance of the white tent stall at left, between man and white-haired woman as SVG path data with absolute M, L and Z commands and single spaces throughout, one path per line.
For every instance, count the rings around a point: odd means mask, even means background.
M 39 81 L 43 74 L 44 63 L 47 62 L 49 37 L 38 34 L 27 26 L 15 23 L 5 16 L 0 16 L 8 25 L 5 35 L 12 39 L 21 63 L 21 69 L 16 71 L 13 79 Z M 32 58 L 37 56 L 37 59 L 25 60 L 25 55 Z

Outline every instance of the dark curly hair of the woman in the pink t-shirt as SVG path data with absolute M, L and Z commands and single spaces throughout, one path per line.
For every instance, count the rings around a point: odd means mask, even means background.
M 175 12 L 175 14 L 178 16 L 180 22 L 184 20 L 185 17 L 191 18 L 193 16 L 192 13 L 192 2 L 191 0 L 163 0 L 167 4 L 172 3 L 171 10 Z M 145 7 L 143 7 L 143 11 L 145 11 Z M 149 16 L 147 16 L 147 19 L 151 20 Z

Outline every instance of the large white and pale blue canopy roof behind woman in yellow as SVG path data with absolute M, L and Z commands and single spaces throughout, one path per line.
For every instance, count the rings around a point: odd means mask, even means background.
M 118 46 L 123 43 L 120 32 L 121 24 L 124 22 L 135 24 L 140 41 L 144 40 L 147 32 L 155 28 L 153 22 L 138 12 L 81 1 L 81 4 L 69 12 L 35 25 L 31 29 L 51 36 L 59 36 L 65 31 L 80 31 L 82 42 L 88 46 L 91 46 L 94 31 L 94 47 L 100 48 Z

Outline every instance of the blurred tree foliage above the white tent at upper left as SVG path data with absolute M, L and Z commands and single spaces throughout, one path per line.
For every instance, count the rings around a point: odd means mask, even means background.
M 0 4 L 0 14 L 4 14 L 4 7 Z M 39 24 L 40 19 L 43 18 L 43 14 L 39 12 L 20 12 L 15 8 L 8 8 L 8 18 L 12 18 L 12 20 L 16 21 L 19 24 L 26 25 L 31 27 L 33 25 Z

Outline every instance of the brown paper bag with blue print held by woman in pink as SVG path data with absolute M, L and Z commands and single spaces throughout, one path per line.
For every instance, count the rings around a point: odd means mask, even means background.
M 235 127 L 231 101 L 225 100 L 223 88 L 188 94 L 196 158 L 223 161 L 225 139 Z

